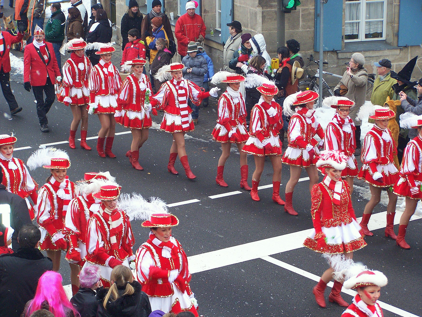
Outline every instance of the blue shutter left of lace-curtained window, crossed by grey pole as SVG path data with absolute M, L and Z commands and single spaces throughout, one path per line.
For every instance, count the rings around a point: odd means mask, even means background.
M 319 8 L 320 0 L 315 0 L 314 50 L 319 51 Z M 295 14 L 294 12 L 292 14 Z M 341 50 L 343 29 L 343 1 L 328 0 L 324 5 L 324 51 Z

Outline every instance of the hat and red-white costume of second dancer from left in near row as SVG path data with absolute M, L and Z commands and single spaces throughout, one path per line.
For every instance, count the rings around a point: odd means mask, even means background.
M 67 158 L 51 158 L 50 165 L 43 166 L 46 169 L 68 169 L 70 161 Z M 75 184 L 66 176 L 62 183 L 51 177 L 48 183 L 41 186 L 38 192 L 38 216 L 37 223 L 41 230 L 41 251 L 67 250 L 68 243 L 64 240 L 62 230 L 65 227 L 66 211 L 70 200 L 75 197 Z M 58 245 L 60 240 L 63 245 Z

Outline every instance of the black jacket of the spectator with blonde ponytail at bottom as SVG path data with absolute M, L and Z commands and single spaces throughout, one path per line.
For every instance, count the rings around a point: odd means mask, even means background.
M 107 309 L 104 309 L 103 300 L 107 295 L 108 288 L 97 291 L 98 312 L 97 317 L 148 317 L 151 314 L 151 305 L 148 295 L 142 292 L 141 284 L 137 281 L 130 283 L 135 289 L 132 295 L 124 295 L 107 302 Z M 126 287 L 118 287 L 120 295 L 124 293 Z

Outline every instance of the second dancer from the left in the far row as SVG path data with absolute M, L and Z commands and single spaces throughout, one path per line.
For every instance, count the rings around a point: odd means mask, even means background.
M 98 132 L 97 152 L 102 158 L 106 156 L 115 158 L 111 152 L 114 133 L 116 131 L 116 120 L 114 113 L 118 110 L 117 93 L 119 92 L 122 79 L 119 70 L 111 63 L 111 54 L 115 51 L 111 44 L 104 44 L 100 50 L 95 52 L 100 55 L 100 63 L 92 67 L 88 80 L 89 113 L 98 115 L 101 129 Z M 107 139 L 106 139 L 107 137 Z M 104 149 L 104 141 L 106 148 Z

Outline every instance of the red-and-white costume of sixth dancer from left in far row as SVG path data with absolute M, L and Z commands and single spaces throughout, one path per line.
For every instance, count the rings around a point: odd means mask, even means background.
M 242 151 L 256 156 L 281 155 L 279 130 L 282 127 L 280 105 L 274 100 L 268 104 L 261 96 L 252 108 L 250 137 Z

